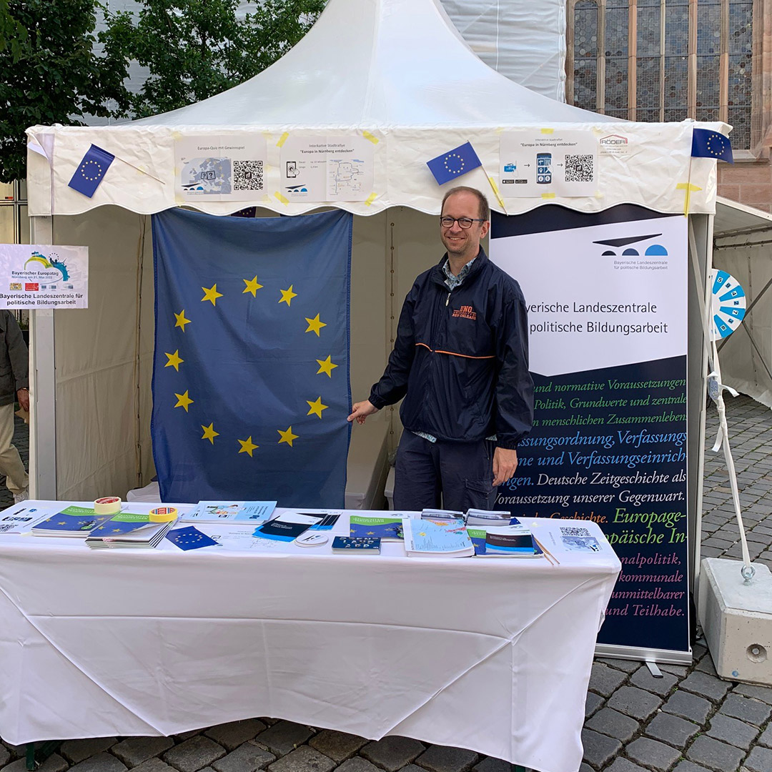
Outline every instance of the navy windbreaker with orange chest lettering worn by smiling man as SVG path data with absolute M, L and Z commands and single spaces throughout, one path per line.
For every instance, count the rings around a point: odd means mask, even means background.
M 405 298 L 397 340 L 370 401 L 376 408 L 405 397 L 402 425 L 451 442 L 495 434 L 516 448 L 533 424 L 528 321 L 520 285 L 480 248 L 452 292 L 442 265 L 415 279 Z

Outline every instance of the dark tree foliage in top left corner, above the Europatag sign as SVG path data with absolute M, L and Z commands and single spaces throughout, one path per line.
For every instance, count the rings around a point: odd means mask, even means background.
M 95 52 L 95 0 L 0 0 L 0 180 L 25 176 L 25 128 L 127 109 L 124 59 Z

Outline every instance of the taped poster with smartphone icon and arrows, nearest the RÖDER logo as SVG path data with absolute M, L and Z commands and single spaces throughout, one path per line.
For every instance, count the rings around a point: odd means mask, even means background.
M 598 141 L 591 131 L 504 131 L 499 144 L 504 198 L 595 195 Z

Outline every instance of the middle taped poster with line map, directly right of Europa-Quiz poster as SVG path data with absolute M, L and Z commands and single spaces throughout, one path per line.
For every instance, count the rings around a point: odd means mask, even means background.
M 289 201 L 364 201 L 373 191 L 374 145 L 364 137 L 288 137 L 281 192 Z

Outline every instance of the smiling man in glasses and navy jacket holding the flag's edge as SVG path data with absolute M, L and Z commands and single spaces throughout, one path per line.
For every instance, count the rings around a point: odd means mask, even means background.
M 348 420 L 363 424 L 405 398 L 395 509 L 438 507 L 442 496 L 448 510 L 490 510 L 533 423 L 526 306 L 480 246 L 490 227 L 485 196 L 453 188 L 441 211 L 447 252 L 415 279 L 386 371 Z

